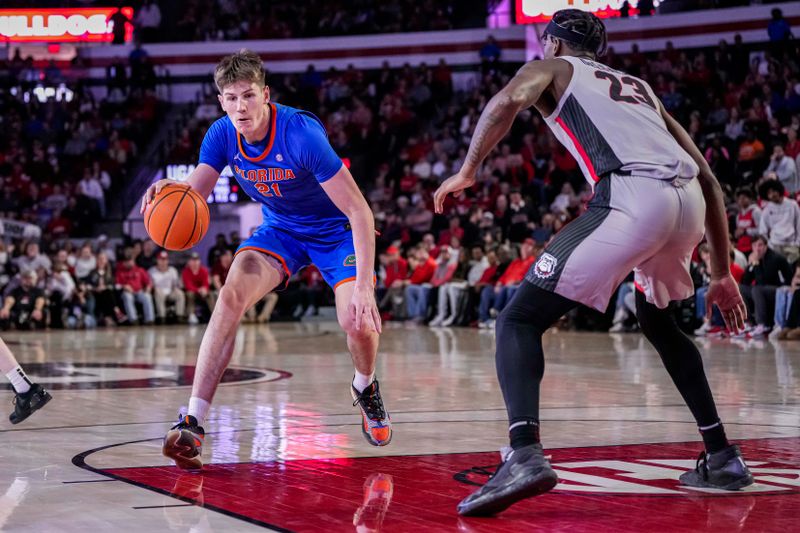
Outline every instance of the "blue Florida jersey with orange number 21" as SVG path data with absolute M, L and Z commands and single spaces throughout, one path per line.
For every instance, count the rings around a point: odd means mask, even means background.
M 341 232 L 347 217 L 320 186 L 342 168 L 325 128 L 311 113 L 268 105 L 263 141 L 248 144 L 222 117 L 203 139 L 200 163 L 219 172 L 230 166 L 242 189 L 262 204 L 266 226 L 311 237 Z

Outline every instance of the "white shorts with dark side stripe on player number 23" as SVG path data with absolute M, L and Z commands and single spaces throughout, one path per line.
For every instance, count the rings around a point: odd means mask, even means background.
M 526 280 L 601 312 L 634 271 L 637 289 L 663 309 L 694 293 L 689 264 L 702 240 L 700 183 L 618 175 L 600 180 L 588 210 L 567 224 Z

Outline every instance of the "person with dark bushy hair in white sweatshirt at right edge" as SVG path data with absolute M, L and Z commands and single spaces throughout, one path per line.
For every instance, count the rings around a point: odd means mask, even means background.
M 761 212 L 759 233 L 768 239 L 769 247 L 789 262 L 800 257 L 800 206 L 785 197 L 786 190 L 778 180 L 767 180 L 759 194 L 767 200 Z

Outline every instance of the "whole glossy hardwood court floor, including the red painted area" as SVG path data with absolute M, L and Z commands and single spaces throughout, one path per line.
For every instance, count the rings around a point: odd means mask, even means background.
M 245 326 L 202 474 L 160 455 L 202 328 L 8 333 L 54 401 L 18 426 L 0 389 L 2 531 L 791 531 L 800 511 L 800 343 L 701 342 L 747 491 L 679 488 L 697 430 L 639 335 L 546 337 L 543 440 L 561 483 L 460 519 L 506 444 L 494 333 L 389 324 L 379 377 L 395 434 L 367 444 L 335 324 Z

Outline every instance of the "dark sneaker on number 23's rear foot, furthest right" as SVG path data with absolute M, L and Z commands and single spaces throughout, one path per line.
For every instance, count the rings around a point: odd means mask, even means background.
M 753 475 L 734 445 L 714 453 L 701 452 L 695 469 L 681 474 L 680 481 L 687 487 L 739 490 L 753 484 Z

